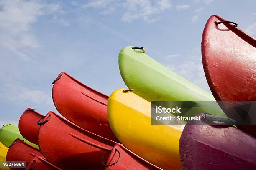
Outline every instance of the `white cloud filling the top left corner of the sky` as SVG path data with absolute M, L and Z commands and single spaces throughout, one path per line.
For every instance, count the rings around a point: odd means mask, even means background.
M 9 52 L 23 60 L 41 45 L 33 35 L 31 25 L 41 15 L 63 13 L 59 4 L 38 1 L 0 1 L 0 51 Z

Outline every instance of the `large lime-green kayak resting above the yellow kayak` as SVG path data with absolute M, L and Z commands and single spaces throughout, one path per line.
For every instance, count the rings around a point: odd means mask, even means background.
M 211 103 L 211 107 L 200 104 L 200 101 L 215 101 L 212 94 L 164 67 L 144 51 L 124 47 L 119 53 L 119 70 L 127 87 L 149 102 L 194 101 L 201 107 L 185 113 L 184 117 L 193 117 L 199 112 L 225 116 L 217 103 Z

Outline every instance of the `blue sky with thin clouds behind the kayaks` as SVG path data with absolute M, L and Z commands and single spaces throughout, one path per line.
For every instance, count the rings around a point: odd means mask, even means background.
M 126 87 L 118 54 L 128 45 L 210 91 L 200 43 L 213 14 L 256 37 L 255 0 L 0 0 L 0 125 L 27 107 L 56 111 L 62 71 L 106 95 Z

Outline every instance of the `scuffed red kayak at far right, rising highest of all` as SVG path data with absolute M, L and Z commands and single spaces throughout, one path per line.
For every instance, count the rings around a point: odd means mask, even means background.
M 236 23 L 219 22 L 227 21 L 212 15 L 202 35 L 202 62 L 212 94 L 217 101 L 256 101 L 256 40 L 237 28 Z M 237 122 L 254 120 L 255 125 L 254 112 L 234 112 L 233 104 L 221 105 L 228 117 Z M 240 124 L 250 124 L 246 121 Z M 238 128 L 256 136 L 256 126 Z

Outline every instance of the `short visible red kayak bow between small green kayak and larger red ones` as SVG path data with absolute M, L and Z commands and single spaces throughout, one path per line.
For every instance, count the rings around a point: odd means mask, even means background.
M 39 127 L 37 121 L 43 115 L 36 112 L 34 109 L 27 108 L 20 117 L 19 130 L 20 134 L 28 141 L 38 145 L 38 131 Z

